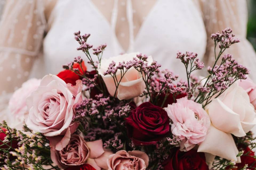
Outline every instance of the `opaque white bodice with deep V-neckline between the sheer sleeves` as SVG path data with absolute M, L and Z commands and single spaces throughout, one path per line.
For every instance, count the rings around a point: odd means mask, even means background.
M 126 9 L 132 14 L 129 15 L 128 12 L 126 19 L 131 21 L 131 16 L 134 16 L 136 11 L 134 7 Z M 164 69 L 180 75 L 185 74 L 185 68 L 176 59 L 178 50 L 193 51 L 200 57 L 205 53 L 206 31 L 201 13 L 192 0 L 156 1 L 138 28 L 138 33 L 134 38 L 127 38 L 127 50 L 122 47 L 116 36 L 113 13 L 109 22 L 90 0 L 58 1 L 51 15 L 52 23 L 43 42 L 43 58 L 38 62 L 38 66 L 45 70 L 40 76 L 47 73 L 57 74 L 63 64 L 72 61 L 76 56 L 84 56 L 85 59 L 85 55 L 76 50 L 79 44 L 74 40 L 73 33 L 78 30 L 81 33 L 90 33 L 88 43 L 95 47 L 107 43 L 103 57 L 141 52 L 153 56 Z M 133 22 L 128 22 L 128 26 L 134 27 Z M 132 34 L 131 28 L 129 34 Z

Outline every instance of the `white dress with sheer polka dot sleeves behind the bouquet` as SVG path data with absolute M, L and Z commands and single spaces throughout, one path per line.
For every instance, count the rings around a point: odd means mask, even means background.
M 22 82 L 57 74 L 63 64 L 83 56 L 76 51 L 73 36 L 78 30 L 91 33 L 90 44 L 107 43 L 104 57 L 138 51 L 184 77 L 184 67 L 175 58 L 177 51 L 197 52 L 206 65 L 211 64 L 210 34 L 231 27 L 241 43 L 227 51 L 255 70 L 255 52 L 246 40 L 245 0 L 59 0 L 49 17 L 47 3 L 6 3 L 0 23 L 1 119 L 8 119 L 10 114 L 3 110 Z

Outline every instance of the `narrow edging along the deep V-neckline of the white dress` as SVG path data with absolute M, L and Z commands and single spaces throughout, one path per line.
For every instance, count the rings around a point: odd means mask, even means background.
M 109 23 L 109 21 L 107 20 L 107 18 L 102 14 L 102 12 L 98 9 L 98 7 L 97 7 L 91 0 L 88 0 L 88 1 L 89 1 L 89 3 L 91 4 L 91 6 L 94 8 L 94 10 L 95 10 L 95 11 L 101 16 L 101 18 L 107 23 L 107 25 L 109 26 L 109 28 L 112 29 L 111 23 Z M 141 34 L 142 30 L 143 30 L 143 27 L 145 27 L 145 25 L 146 25 L 146 23 L 148 22 L 150 16 L 153 14 L 153 11 L 155 10 L 155 8 L 157 8 L 157 6 L 158 6 L 158 4 L 159 4 L 159 1 L 160 1 L 160 0 L 157 0 L 157 1 L 155 2 L 155 4 L 152 6 L 152 8 L 149 10 L 147 16 L 145 17 L 144 21 L 142 22 L 142 24 L 141 24 L 141 26 L 140 26 L 140 28 L 139 28 L 139 31 L 138 31 L 136 37 L 133 37 L 133 39 L 134 39 L 134 44 L 135 44 L 135 42 L 137 41 L 138 37 L 140 36 L 140 34 Z M 123 46 L 121 45 L 120 41 L 118 40 L 116 33 L 113 32 L 113 34 L 114 34 L 114 35 L 113 35 L 113 36 L 114 36 L 114 39 L 115 39 L 117 45 L 119 46 L 119 48 L 121 49 L 121 51 L 122 51 L 122 52 L 129 52 L 129 50 L 131 49 L 130 43 L 129 43 L 129 46 L 128 46 L 127 50 L 125 50 L 125 49 L 123 48 Z M 129 35 L 129 36 L 130 36 L 130 35 Z

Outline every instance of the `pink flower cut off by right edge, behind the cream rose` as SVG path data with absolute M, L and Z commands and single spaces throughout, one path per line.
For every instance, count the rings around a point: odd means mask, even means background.
M 245 80 L 239 81 L 239 86 L 241 86 L 249 95 L 250 102 L 256 109 L 256 84 L 249 77 Z

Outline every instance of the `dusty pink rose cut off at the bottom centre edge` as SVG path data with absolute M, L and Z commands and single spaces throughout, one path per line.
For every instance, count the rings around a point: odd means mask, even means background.
M 117 151 L 107 159 L 109 170 L 145 170 L 149 157 L 142 151 Z

